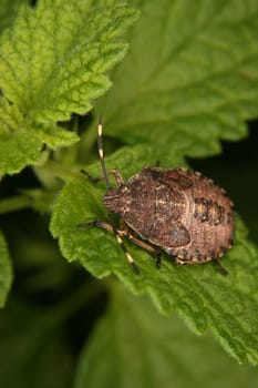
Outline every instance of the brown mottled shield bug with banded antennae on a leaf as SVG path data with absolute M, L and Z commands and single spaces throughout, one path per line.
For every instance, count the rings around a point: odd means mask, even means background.
M 182 265 L 214 262 L 224 275 L 227 270 L 218 262 L 231 247 L 234 238 L 234 208 L 223 188 L 199 172 L 184 169 L 145 166 L 124 183 L 117 170 L 105 169 L 102 122 L 99 122 L 97 147 L 107 192 L 103 203 L 110 222 L 91 221 L 80 227 L 96 226 L 113 233 L 127 261 L 138 272 L 127 252 L 123 237 L 156 255 L 161 266 L 165 252 Z M 112 187 L 109 175 L 114 175 L 117 187 Z M 120 215 L 116 228 L 113 214 Z

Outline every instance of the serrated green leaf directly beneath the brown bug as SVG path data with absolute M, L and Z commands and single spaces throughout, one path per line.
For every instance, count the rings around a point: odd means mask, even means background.
M 113 155 L 115 167 L 130 165 L 133 149 Z M 117 161 L 122 161 L 121 164 Z M 123 171 L 123 169 L 120 169 Z M 91 173 L 96 170 L 90 170 Z M 126 178 L 127 176 L 125 176 Z M 115 237 L 97 228 L 79 229 L 78 224 L 107 219 L 102 205 L 104 187 L 84 176 L 72 181 L 61 193 L 51 222 L 51 232 L 69 261 L 79 259 L 94 276 L 115 274 L 134 294 L 147 293 L 156 307 L 168 314 L 176 309 L 196 333 L 209 329 L 221 346 L 239 363 L 258 363 L 258 254 L 247 241 L 242 223 L 237 218 L 234 248 L 223 258 L 229 272 L 223 276 L 213 264 L 182 267 L 163 261 L 156 269 L 155 258 L 127 244 L 140 267 L 136 275 Z

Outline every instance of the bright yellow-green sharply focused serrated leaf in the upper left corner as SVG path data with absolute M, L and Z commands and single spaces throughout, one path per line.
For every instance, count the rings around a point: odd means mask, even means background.
M 0 41 L 0 173 L 34 163 L 42 143 L 79 140 L 56 122 L 85 114 L 110 88 L 104 74 L 124 57 L 127 43 L 120 37 L 135 19 L 134 10 L 111 0 L 42 0 L 34 10 L 21 8 Z M 25 150 L 17 147 L 21 131 Z M 22 157 L 13 163 L 17 151 Z

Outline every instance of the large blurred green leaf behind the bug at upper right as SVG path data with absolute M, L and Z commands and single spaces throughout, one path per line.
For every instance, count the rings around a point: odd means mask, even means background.
M 101 101 L 105 132 L 164 153 L 187 139 L 190 156 L 245 136 L 245 120 L 258 114 L 258 2 L 134 3 L 141 18 L 128 54 Z

